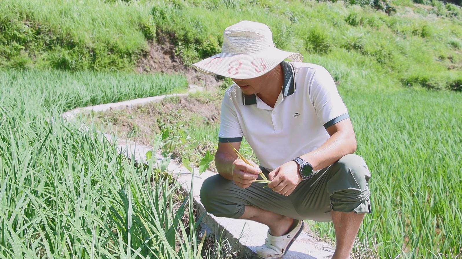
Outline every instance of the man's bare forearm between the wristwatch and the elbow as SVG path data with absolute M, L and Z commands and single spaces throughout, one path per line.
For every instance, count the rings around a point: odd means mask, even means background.
M 356 138 L 349 132 L 335 132 L 322 146 L 300 156 L 310 162 L 313 170 L 319 170 L 332 165 L 344 155 L 356 151 Z

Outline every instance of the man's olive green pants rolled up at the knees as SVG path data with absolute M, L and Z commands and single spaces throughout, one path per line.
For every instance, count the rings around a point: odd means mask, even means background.
M 268 175 L 267 169 L 260 168 Z M 217 217 L 237 219 L 250 205 L 292 219 L 332 221 L 331 211 L 371 213 L 370 177 L 363 158 L 350 154 L 301 181 L 289 196 L 262 188 L 266 185 L 263 183 L 243 189 L 217 174 L 202 184 L 201 202 L 208 213 Z

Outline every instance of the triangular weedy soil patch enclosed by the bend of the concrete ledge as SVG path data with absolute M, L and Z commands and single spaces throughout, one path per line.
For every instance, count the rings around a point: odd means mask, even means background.
M 186 150 L 182 143 L 172 144 L 173 157 L 188 155 L 191 162 L 199 162 L 207 151 L 216 151 L 216 133 L 204 132 L 218 128 L 222 96 L 222 91 L 215 90 L 170 97 L 159 103 L 83 115 L 83 120 L 87 124 L 95 123 L 105 132 L 147 146 L 154 145 L 155 136 L 163 131 L 170 132 L 173 137 L 186 132 L 198 141 L 197 146 L 194 150 Z M 205 135 L 208 138 L 203 137 Z M 211 169 L 213 171 L 213 166 Z

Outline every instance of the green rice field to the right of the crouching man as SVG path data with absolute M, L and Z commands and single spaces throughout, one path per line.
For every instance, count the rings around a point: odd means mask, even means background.
M 352 117 L 357 154 L 371 170 L 372 214 L 365 216 L 359 243 L 379 258 L 457 258 L 462 247 L 461 95 L 417 90 L 340 94 Z M 332 224 L 316 223 L 311 229 L 333 240 Z

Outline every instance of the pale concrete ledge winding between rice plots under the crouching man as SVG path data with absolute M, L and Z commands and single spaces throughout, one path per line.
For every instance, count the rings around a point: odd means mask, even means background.
M 197 91 L 193 88 L 190 91 Z M 199 89 L 201 91 L 201 89 Z M 104 111 L 109 109 L 123 109 L 126 107 L 132 107 L 135 105 L 145 104 L 149 102 L 158 102 L 168 96 L 183 96 L 187 94 L 170 94 L 149 98 L 140 98 L 120 103 L 113 104 L 102 104 L 96 106 L 89 106 L 84 108 L 73 109 L 62 114 L 64 119 L 72 120 L 81 112 L 84 111 Z M 114 140 L 114 137 L 110 134 L 103 133 L 104 136 L 109 140 Z M 146 163 L 146 152 L 152 151 L 156 154 L 156 165 L 160 167 L 164 157 L 155 151 L 151 147 L 144 146 L 141 144 L 134 143 L 126 139 L 118 138 L 115 139 L 117 143 L 117 150 L 126 155 L 130 159 L 135 161 Z M 171 160 L 167 166 L 167 171 L 173 174 L 177 178 L 182 188 L 192 195 L 194 198 L 194 205 L 202 215 L 205 212 L 204 206 L 201 203 L 199 196 L 202 183 L 204 180 L 215 173 L 206 171 L 199 175 L 198 173 L 190 173 L 188 169 L 182 167 L 177 161 Z M 267 234 L 267 226 L 244 219 L 228 219 L 215 217 L 212 214 L 206 214 L 202 219 L 202 222 L 206 224 L 207 228 L 213 230 L 214 233 L 222 235 L 223 239 L 227 239 L 231 244 L 233 250 L 238 252 L 239 258 L 256 259 L 255 247 L 262 245 L 265 242 Z M 297 240 L 290 247 L 284 259 L 328 259 L 332 257 L 334 248 L 328 243 L 318 241 L 315 237 L 310 236 L 305 231 L 298 236 Z

